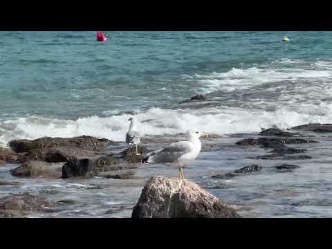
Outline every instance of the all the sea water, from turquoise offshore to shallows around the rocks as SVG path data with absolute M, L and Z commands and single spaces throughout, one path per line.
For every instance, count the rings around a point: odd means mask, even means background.
M 282 42 L 288 35 L 290 42 Z M 190 127 L 221 138 L 184 169 L 185 177 L 252 217 L 331 216 L 332 139 L 315 144 L 305 160 L 258 160 L 269 149 L 240 147 L 261 128 L 332 122 L 331 32 L 0 32 L 0 145 L 13 139 L 90 135 L 123 141 L 135 116 L 151 149 Z M 195 94 L 208 100 L 178 104 Z M 236 134 L 232 135 L 230 134 Z M 240 135 L 239 133 L 250 133 Z M 163 142 L 158 139 L 165 138 Z M 178 138 L 174 138 L 176 140 Z M 169 141 L 168 141 L 169 142 Z M 300 166 L 278 172 L 275 165 Z M 211 178 L 247 165 L 261 172 Z M 31 192 L 72 200 L 29 216 L 131 215 L 145 181 L 176 176 L 167 165 L 136 165 L 138 179 L 17 178 L 0 167 L 0 196 Z

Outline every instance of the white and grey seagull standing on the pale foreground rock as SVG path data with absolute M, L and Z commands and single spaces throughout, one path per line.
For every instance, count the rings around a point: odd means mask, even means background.
M 152 151 L 142 163 L 170 163 L 178 166 L 178 176 L 183 179 L 182 167 L 191 163 L 201 151 L 199 137 L 206 135 L 196 130 L 187 132 L 187 141 L 174 142 L 163 149 Z

